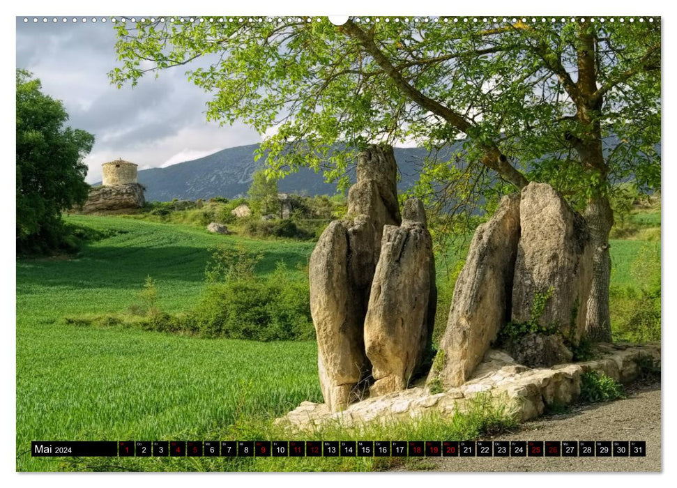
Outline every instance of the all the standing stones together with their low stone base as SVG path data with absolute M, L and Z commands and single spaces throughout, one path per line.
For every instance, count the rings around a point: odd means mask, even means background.
M 530 183 L 504 197 L 473 236 L 439 357 L 427 374 L 427 383 L 444 392 L 409 388 L 414 375 L 425 375 L 420 369 L 434 324 L 435 264 L 423 204 L 409 199 L 400 215 L 396 178 L 392 148 L 360 153 L 347 216 L 329 224 L 312 253 L 310 309 L 325 403 L 303 402 L 287 415 L 292 424 L 344 414 L 344 420 L 366 421 L 379 412 L 456 404 L 480 390 L 508 391 L 522 400 L 535 395 L 540 408 L 521 403 L 522 417 L 531 418 L 542 412 L 544 398 L 575 398 L 585 368 L 627 380 L 639 356 L 660 358 L 660 347 L 612 348 L 606 353 L 618 358 L 565 364 L 584 335 L 591 242 L 581 215 L 551 186 Z M 537 323 L 548 333 L 519 335 L 497 350 L 496 338 L 510 321 Z

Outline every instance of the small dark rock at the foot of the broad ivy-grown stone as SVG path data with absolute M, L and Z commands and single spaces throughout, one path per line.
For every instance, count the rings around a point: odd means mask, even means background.
M 528 367 L 548 367 L 569 363 L 574 357 L 561 335 L 531 333 L 506 344 L 506 351 L 515 361 Z

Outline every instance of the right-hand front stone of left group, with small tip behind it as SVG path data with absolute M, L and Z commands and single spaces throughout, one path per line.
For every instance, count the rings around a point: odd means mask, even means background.
M 401 227 L 383 229 L 365 318 L 365 347 L 376 380 L 372 396 L 406 388 L 434 326 L 435 268 L 423 204 L 407 200 L 403 213 Z

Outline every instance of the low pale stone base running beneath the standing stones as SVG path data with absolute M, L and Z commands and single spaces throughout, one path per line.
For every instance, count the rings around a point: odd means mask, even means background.
M 477 395 L 507 407 L 522 421 L 538 417 L 545 406 L 575 402 L 581 392 L 581 376 L 586 371 L 604 372 L 616 381 L 630 383 L 637 379 L 642 357 L 660 360 L 660 345 L 625 346 L 600 344 L 599 359 L 585 363 L 530 369 L 516 364 L 510 356 L 489 349 L 473 377 L 462 388 L 450 388 L 431 395 L 424 388 L 409 388 L 380 397 L 370 397 L 333 412 L 326 404 L 303 402 L 298 408 L 277 419 L 277 424 L 299 431 L 316 426 L 353 427 L 369 422 L 388 423 L 418 418 L 427 413 L 452 415 L 464 411 Z

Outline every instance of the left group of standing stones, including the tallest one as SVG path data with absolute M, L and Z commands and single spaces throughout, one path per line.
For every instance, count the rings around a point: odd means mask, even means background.
M 397 201 L 393 148 L 358 157 L 344 220 L 331 222 L 310 257 L 310 312 L 326 404 L 402 390 L 420 365 L 435 317 L 434 257 L 423 205 Z

